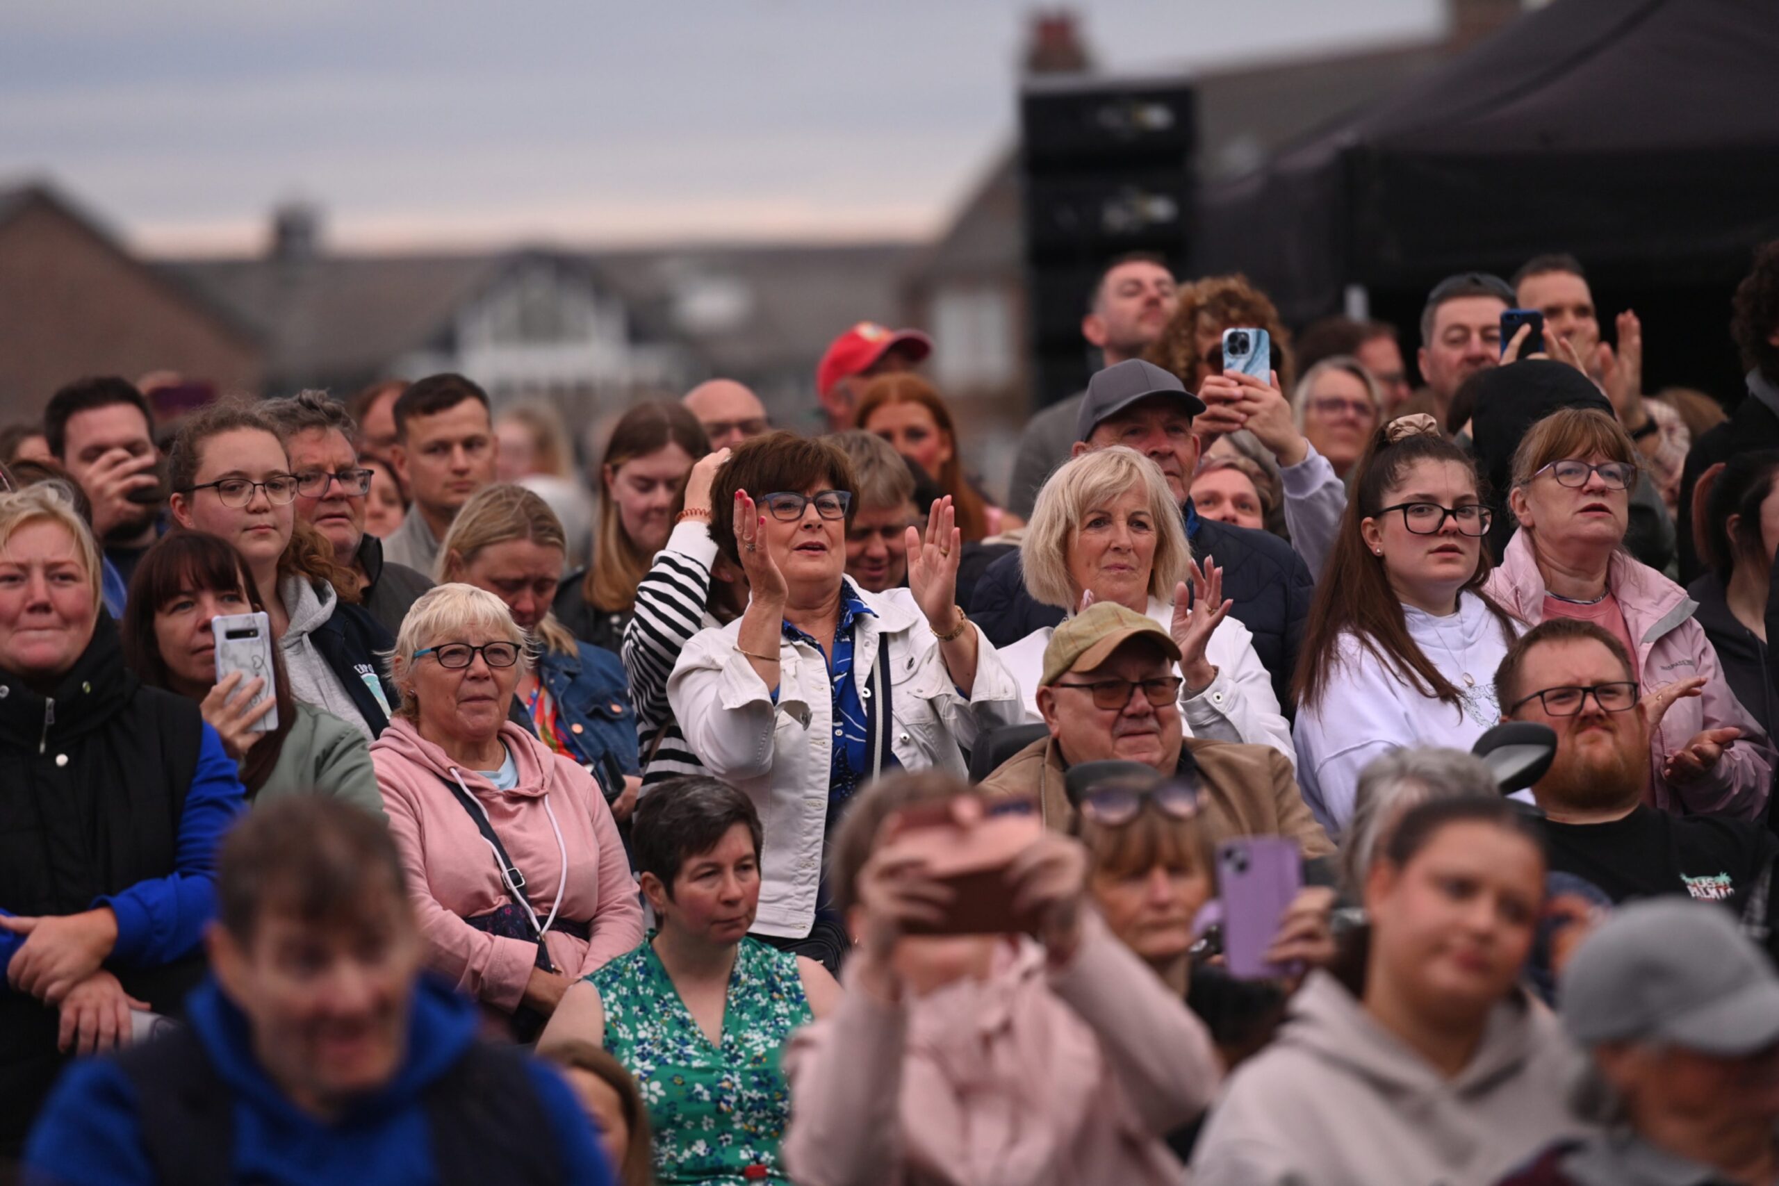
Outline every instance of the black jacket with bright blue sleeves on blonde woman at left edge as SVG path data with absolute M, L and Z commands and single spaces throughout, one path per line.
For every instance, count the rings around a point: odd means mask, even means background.
M 110 905 L 105 967 L 157 1012 L 203 980 L 215 848 L 242 811 L 235 763 L 197 704 L 142 686 L 117 626 L 43 695 L 0 672 L 0 909 L 25 918 Z M 9 958 L 0 946 L 0 962 Z M 62 1058 L 57 1012 L 0 983 L 0 1159 L 14 1156 Z

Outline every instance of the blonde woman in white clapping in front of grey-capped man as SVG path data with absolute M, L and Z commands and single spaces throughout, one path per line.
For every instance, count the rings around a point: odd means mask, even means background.
M 1069 613 L 1115 601 L 1147 613 L 1179 644 L 1179 708 L 1195 738 L 1270 745 L 1295 765 L 1292 727 L 1247 628 L 1229 617 L 1222 569 L 1192 560 L 1179 503 L 1153 461 L 1115 445 L 1075 457 L 1037 493 L 1019 542 L 1025 587 Z M 1187 581 L 1197 589 L 1197 596 Z M 1037 685 L 1053 626 L 1005 647 L 1025 717 L 1037 724 Z

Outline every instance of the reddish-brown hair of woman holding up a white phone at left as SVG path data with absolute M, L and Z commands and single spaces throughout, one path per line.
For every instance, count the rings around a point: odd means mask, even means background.
M 174 528 L 148 549 L 130 574 L 130 596 L 123 603 L 123 621 L 117 622 L 123 635 L 123 661 L 135 672 L 137 679 L 151 688 L 173 692 L 173 672 L 160 653 L 160 635 L 155 633 L 155 617 L 162 606 L 180 596 L 181 590 L 226 592 L 238 589 L 246 592 L 247 605 L 254 612 L 263 612 L 260 590 L 247 573 L 247 562 L 240 558 L 235 546 L 226 539 L 217 539 L 206 532 Z M 265 786 L 278 765 L 278 756 L 285 749 L 285 738 L 297 718 L 297 706 L 290 699 L 290 679 L 285 676 L 285 656 L 272 645 L 272 699 L 278 701 L 278 729 L 262 738 L 242 763 L 240 781 L 253 798 Z

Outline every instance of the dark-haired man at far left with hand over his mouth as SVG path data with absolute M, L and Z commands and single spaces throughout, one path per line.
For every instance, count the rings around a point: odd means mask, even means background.
M 93 535 L 123 583 L 155 542 L 167 491 L 157 471 L 155 416 L 126 379 L 82 379 L 43 409 L 50 453 L 93 505 Z

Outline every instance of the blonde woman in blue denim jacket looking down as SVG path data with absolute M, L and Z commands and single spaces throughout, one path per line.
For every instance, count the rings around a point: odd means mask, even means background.
M 434 578 L 507 603 L 537 656 L 514 693 L 523 718 L 544 745 L 598 779 L 605 802 L 624 820 L 640 786 L 637 715 L 617 656 L 578 640 L 550 612 L 564 548 L 562 525 L 543 498 L 523 485 L 489 485 L 452 521 Z

